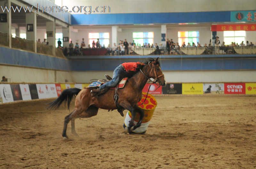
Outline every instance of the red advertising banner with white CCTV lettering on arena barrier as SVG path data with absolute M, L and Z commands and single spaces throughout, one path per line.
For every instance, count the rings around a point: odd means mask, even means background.
M 245 94 L 245 83 L 224 83 L 225 94 Z

